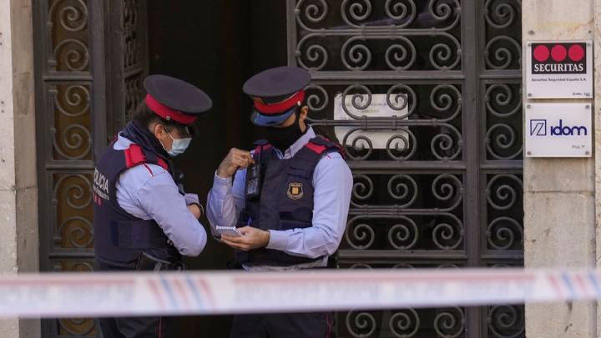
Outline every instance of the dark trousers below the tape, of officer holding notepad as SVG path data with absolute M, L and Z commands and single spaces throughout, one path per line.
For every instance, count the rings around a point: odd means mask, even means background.
M 230 338 L 331 338 L 332 319 L 329 312 L 238 315 Z

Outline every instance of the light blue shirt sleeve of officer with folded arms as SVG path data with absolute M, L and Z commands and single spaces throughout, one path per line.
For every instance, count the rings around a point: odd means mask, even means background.
M 180 253 L 198 256 L 203 251 L 207 233 L 186 206 L 186 199 L 168 173 L 151 176 L 138 189 L 135 198 Z

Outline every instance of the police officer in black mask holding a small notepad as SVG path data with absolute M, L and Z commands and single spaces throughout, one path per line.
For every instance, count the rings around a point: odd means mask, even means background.
M 252 152 L 230 150 L 216 171 L 207 217 L 213 236 L 236 249 L 247 271 L 324 268 L 344 234 L 352 174 L 341 150 L 305 122 L 309 82 L 305 70 L 278 67 L 243 87 L 267 140 Z M 324 312 L 239 315 L 231 328 L 234 338 L 331 335 L 332 316 Z

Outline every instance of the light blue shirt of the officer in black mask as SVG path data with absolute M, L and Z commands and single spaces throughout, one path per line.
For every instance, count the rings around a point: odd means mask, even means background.
M 276 149 L 280 159 L 292 158 L 302 149 L 315 132 L 311 127 L 284 154 Z M 231 177 L 222 178 L 215 174 L 213 189 L 207 200 L 207 218 L 213 236 L 219 238 L 216 226 L 236 226 L 240 210 L 245 205 L 246 169 L 239 170 L 232 185 Z M 291 230 L 269 230 L 267 248 L 284 251 L 292 256 L 319 258 L 317 262 L 291 267 L 252 266 L 253 271 L 297 269 L 311 266 L 325 266 L 327 256 L 335 253 L 340 245 L 349 214 L 350 194 L 353 176 L 349 166 L 339 153 L 329 153 L 317 163 L 313 172 L 313 220 L 312 227 Z

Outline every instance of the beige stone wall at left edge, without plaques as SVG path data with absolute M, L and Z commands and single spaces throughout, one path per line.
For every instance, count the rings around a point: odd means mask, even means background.
M 39 271 L 31 0 L 0 0 L 0 273 Z M 40 336 L 4 319 L 0 336 Z

